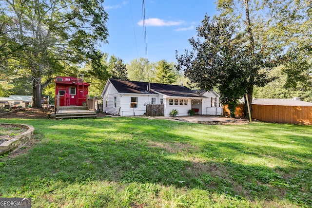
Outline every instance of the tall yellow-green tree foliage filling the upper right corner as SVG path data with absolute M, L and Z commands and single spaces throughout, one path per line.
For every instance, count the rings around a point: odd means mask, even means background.
M 311 85 L 312 4 L 311 0 L 218 0 L 221 16 L 246 25 L 249 34 L 278 54 L 285 87 L 296 90 Z M 245 14 L 241 11 L 245 11 Z M 304 84 L 305 83 L 305 84 Z

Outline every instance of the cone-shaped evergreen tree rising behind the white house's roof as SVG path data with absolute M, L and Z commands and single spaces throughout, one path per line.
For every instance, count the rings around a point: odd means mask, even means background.
M 173 64 L 169 64 L 166 60 L 160 60 L 156 63 L 155 77 L 152 81 L 162 84 L 172 84 L 176 81 L 176 73 Z

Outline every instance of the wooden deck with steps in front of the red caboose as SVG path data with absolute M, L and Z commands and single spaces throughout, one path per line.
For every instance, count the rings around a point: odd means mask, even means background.
M 87 106 L 59 106 L 55 113 L 55 119 L 85 117 L 96 118 L 97 114 L 90 111 Z

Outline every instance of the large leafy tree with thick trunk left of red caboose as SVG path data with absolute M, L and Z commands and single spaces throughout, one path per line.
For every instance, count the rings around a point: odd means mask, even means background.
M 14 20 L 6 25 L 12 28 L 12 34 L 5 38 L 20 47 L 10 54 L 9 58 L 17 61 L 10 69 L 18 65 L 25 76 L 32 78 L 34 107 L 41 107 L 42 89 L 55 74 L 68 65 L 97 57 L 98 42 L 105 42 L 108 36 L 103 2 L 1 0 L 1 15 Z

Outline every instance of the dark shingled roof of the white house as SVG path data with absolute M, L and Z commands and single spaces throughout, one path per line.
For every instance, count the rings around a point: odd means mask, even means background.
M 180 85 L 170 85 L 170 84 L 159 84 L 150 83 L 150 91 L 148 89 L 148 82 L 138 82 L 138 81 L 126 81 L 119 79 L 109 79 L 109 81 L 114 85 L 118 93 L 136 93 L 136 94 L 155 94 L 160 93 L 167 96 L 176 97 L 205 97 L 202 95 L 197 95 L 192 92 L 191 89 L 180 86 Z

